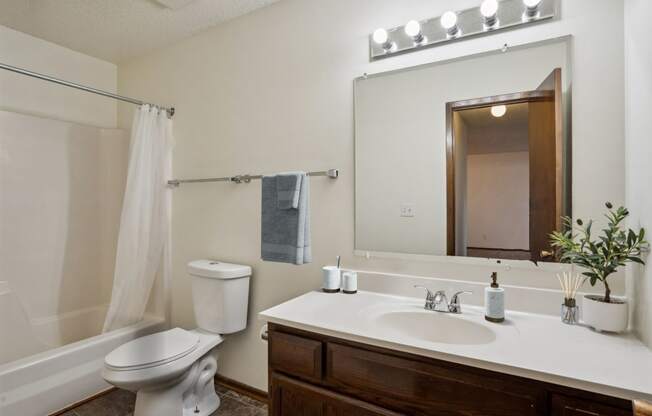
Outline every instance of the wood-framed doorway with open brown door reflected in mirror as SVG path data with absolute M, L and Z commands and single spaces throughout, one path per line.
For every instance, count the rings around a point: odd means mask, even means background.
M 448 255 L 552 260 L 549 235 L 570 209 L 562 196 L 561 69 L 535 90 L 446 110 Z

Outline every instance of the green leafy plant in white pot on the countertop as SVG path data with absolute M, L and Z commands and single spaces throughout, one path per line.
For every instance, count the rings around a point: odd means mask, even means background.
M 586 223 L 581 219 L 573 221 L 564 217 L 566 230 L 550 235 L 551 245 L 559 261 L 577 265 L 586 271 L 591 286 L 599 281 L 604 285 L 604 296 L 585 295 L 582 302 L 584 322 L 598 331 L 622 332 L 627 329 L 629 317 L 627 301 L 611 295 L 609 277 L 627 263 L 645 264 L 641 259 L 649 247 L 645 240 L 645 229 L 638 232 L 624 228 L 629 216 L 625 207 L 613 209 L 607 202 L 606 228 L 597 237 L 592 235 L 593 220 Z

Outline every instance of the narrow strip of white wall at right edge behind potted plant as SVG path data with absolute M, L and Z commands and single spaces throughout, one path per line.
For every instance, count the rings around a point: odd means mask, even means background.
M 627 205 L 632 212 L 631 227 L 652 231 L 652 47 L 649 0 L 625 2 L 625 79 L 627 137 Z M 651 258 L 648 256 L 648 261 Z M 632 267 L 628 294 L 634 299 L 632 324 L 652 348 L 652 266 Z

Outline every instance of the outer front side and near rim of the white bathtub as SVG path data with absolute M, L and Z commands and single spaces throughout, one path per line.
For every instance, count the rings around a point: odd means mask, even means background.
M 43 416 L 108 389 L 100 376 L 104 356 L 164 326 L 163 319 L 145 316 L 136 325 L 0 365 L 0 415 Z

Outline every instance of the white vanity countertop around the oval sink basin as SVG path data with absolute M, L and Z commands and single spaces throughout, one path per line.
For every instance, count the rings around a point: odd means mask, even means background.
M 601 334 L 569 326 L 558 317 L 506 312 L 501 324 L 485 321 L 482 308 L 463 305 L 446 314 L 490 328 L 482 344 L 433 342 L 388 329 L 375 318 L 388 311 L 423 311 L 423 300 L 373 292 L 306 293 L 260 313 L 260 319 L 369 345 L 561 384 L 625 399 L 652 400 L 652 351 L 631 334 Z M 437 331 L 437 328 L 424 328 Z

